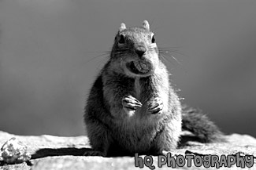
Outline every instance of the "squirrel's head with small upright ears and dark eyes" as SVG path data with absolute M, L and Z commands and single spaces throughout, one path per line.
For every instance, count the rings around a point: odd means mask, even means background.
M 158 67 L 158 47 L 147 20 L 142 27 L 126 28 L 122 23 L 111 52 L 115 70 L 131 77 L 146 77 Z

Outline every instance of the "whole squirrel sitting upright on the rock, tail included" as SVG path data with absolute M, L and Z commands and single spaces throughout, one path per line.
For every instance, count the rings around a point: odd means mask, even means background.
M 147 20 L 121 24 L 84 108 L 92 146 L 85 155 L 164 154 L 178 146 L 182 129 L 203 143 L 221 139 L 205 114 L 181 105 L 159 55 Z

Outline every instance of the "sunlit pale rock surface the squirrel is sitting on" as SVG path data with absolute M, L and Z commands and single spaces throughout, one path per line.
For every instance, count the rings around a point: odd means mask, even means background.
M 28 146 L 28 153 L 32 154 L 31 161 L 20 163 L 17 165 L 7 165 L 0 161 L 0 169 L 139 169 L 135 167 L 135 157 L 84 157 L 82 156 L 87 150 L 91 150 L 87 136 L 76 137 L 59 137 L 59 136 L 15 136 L 7 132 L 0 132 L 0 147 L 8 139 L 16 137 L 26 146 Z M 181 155 L 198 155 L 206 154 L 221 155 L 236 155 L 239 153 L 241 157 L 249 154 L 254 155 L 254 166 L 251 169 L 256 169 L 256 139 L 247 135 L 232 134 L 225 136 L 227 142 L 225 143 L 196 143 L 188 142 L 187 145 L 173 150 L 173 154 Z M 186 154 L 185 154 L 186 153 Z M 144 156 L 140 156 L 144 157 Z M 1 160 L 1 159 L 0 159 Z M 155 169 L 170 169 L 166 165 L 158 168 L 158 157 L 152 158 Z M 195 167 L 194 162 L 192 167 L 184 167 L 176 169 L 204 169 Z M 144 169 L 150 169 L 146 165 Z M 246 166 L 247 168 L 247 166 Z M 207 168 L 215 169 L 215 168 Z M 233 165 L 232 168 L 220 169 L 240 169 Z

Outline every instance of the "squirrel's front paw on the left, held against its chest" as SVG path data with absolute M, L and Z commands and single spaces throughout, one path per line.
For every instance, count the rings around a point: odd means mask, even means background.
M 138 99 L 135 99 L 133 96 L 124 96 L 122 99 L 122 104 L 124 111 L 126 113 L 134 112 L 136 107 L 142 107 L 143 104 L 139 102 Z

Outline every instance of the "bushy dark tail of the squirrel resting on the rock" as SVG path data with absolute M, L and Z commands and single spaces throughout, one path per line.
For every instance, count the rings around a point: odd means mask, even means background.
M 201 110 L 183 107 L 182 129 L 193 133 L 201 143 L 224 141 L 223 133 Z

